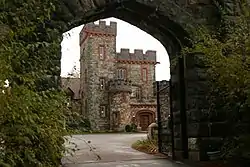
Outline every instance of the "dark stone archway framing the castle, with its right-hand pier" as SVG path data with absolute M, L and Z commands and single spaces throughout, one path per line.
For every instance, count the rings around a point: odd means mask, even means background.
M 192 27 L 199 25 L 216 27 L 216 24 L 220 22 L 218 8 L 213 1 L 53 0 L 49 3 L 54 6 L 55 11 L 51 15 L 51 19 L 45 20 L 37 28 L 36 31 L 40 34 L 45 34 L 44 27 L 63 33 L 81 24 L 116 17 L 158 39 L 168 51 L 170 64 L 173 64 L 173 59 L 179 55 L 183 46 L 189 46 L 188 38 L 192 38 Z M 233 3 L 229 0 L 227 2 L 229 5 L 225 6 L 231 8 Z M 237 11 L 236 8 L 238 7 L 235 6 L 231 11 Z M 9 26 L 11 27 L 11 25 Z M 37 42 L 35 38 L 30 40 L 31 43 Z M 59 50 L 58 55 L 60 55 Z M 53 65 L 60 67 L 61 57 L 53 56 L 53 58 L 56 59 L 51 60 Z M 178 140 L 176 143 L 181 143 L 176 146 L 176 150 L 184 153 L 183 157 L 187 158 L 187 137 L 199 138 L 201 127 L 206 127 L 206 125 L 197 122 L 202 117 L 201 111 L 205 111 L 207 106 L 204 105 L 206 78 L 200 75 L 203 73 L 203 67 L 199 65 L 199 55 L 189 56 L 185 61 L 184 59 L 179 58 L 177 65 L 171 68 L 171 99 L 172 109 L 175 113 L 174 129 L 176 140 Z M 51 74 L 60 76 L 59 68 L 53 69 Z M 190 122 L 195 123 L 186 124 L 186 112 Z M 189 128 L 188 132 L 187 128 Z

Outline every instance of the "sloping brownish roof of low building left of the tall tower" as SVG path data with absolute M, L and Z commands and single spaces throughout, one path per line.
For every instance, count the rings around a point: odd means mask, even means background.
M 61 86 L 74 93 L 73 99 L 80 99 L 80 78 L 61 78 Z

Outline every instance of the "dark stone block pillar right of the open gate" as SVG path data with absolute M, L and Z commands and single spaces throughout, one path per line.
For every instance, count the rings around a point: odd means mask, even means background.
M 211 122 L 207 75 L 209 66 L 203 60 L 202 53 L 186 57 L 189 158 L 197 161 L 209 160 L 208 152 L 219 151 L 221 137 L 227 135 L 226 124 Z M 216 129 L 221 130 L 217 133 Z

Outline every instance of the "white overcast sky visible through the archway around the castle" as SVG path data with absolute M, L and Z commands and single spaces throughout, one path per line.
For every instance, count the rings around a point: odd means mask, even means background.
M 156 66 L 156 80 L 169 80 L 170 68 L 169 57 L 163 45 L 154 37 L 141 29 L 116 18 L 104 19 L 109 25 L 110 21 L 117 22 L 117 37 L 116 37 L 116 51 L 120 52 L 120 48 L 129 48 L 130 52 L 134 49 L 156 50 L 157 61 L 160 62 Z M 96 24 L 98 23 L 95 22 Z M 61 43 L 62 46 L 62 59 L 61 59 L 61 76 L 67 76 L 72 72 L 74 65 L 77 69 L 80 68 L 80 47 L 79 47 L 79 33 L 83 25 L 76 27 L 68 32 L 68 37 L 64 37 Z M 64 33 L 64 34 L 66 34 Z

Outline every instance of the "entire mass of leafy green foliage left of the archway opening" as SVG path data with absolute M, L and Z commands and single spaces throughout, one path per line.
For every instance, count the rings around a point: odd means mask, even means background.
M 67 99 L 53 77 L 60 75 L 56 3 L 0 2 L 0 83 L 11 83 L 0 87 L 0 166 L 59 166 L 65 151 Z

